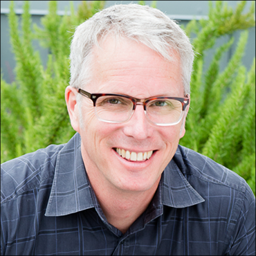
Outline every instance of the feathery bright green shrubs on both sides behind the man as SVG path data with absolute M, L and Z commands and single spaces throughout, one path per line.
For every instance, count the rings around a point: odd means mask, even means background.
M 75 26 L 104 8 L 105 1 L 82 1 L 76 12 L 71 2 L 70 14 L 64 16 L 57 15 L 57 1 L 49 1 L 42 28 L 32 24 L 29 1 L 24 2 L 21 33 L 13 2 L 8 17 L 17 65 L 15 82 L 7 84 L 1 76 L 1 163 L 53 143 L 66 143 L 75 134 L 64 100 L 71 37 Z M 189 37 L 194 35 L 196 58 L 186 134 L 180 144 L 237 172 L 255 193 L 255 60 L 249 71 L 241 63 L 246 29 L 255 26 L 254 1 L 246 13 L 246 1 L 235 10 L 223 1 L 209 4 L 208 19 L 192 20 L 183 27 Z M 234 43 L 233 37 L 217 48 L 203 72 L 205 52 L 217 39 L 237 30 L 244 31 L 226 68 L 220 70 L 221 56 Z M 33 40 L 51 53 L 46 67 L 33 49 Z

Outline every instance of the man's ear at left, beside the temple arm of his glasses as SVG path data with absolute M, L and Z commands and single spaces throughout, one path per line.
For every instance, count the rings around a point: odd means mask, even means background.
M 71 120 L 71 125 L 73 129 L 77 132 L 80 131 L 80 124 L 79 124 L 79 109 L 76 100 L 76 89 L 67 86 L 65 91 L 65 100 L 66 100 L 66 107 L 68 108 L 69 118 Z

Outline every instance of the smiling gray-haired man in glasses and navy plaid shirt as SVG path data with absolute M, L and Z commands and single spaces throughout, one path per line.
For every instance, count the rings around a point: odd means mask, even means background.
M 179 146 L 194 53 L 162 12 L 77 27 L 65 96 L 77 134 L 2 165 L 3 255 L 251 255 L 244 179 Z

